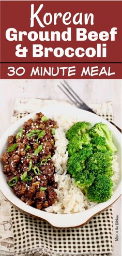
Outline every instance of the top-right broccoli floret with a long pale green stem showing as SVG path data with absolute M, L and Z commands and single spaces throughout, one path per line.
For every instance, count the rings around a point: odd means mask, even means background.
M 90 137 L 104 137 L 105 138 L 105 146 L 107 149 L 109 149 L 112 153 L 116 152 L 116 147 L 112 141 L 112 131 L 108 129 L 108 125 L 98 123 L 95 124 L 90 130 L 89 130 Z

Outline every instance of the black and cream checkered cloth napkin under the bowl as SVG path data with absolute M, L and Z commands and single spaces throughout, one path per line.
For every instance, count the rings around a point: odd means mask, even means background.
M 96 109 L 94 109 L 96 111 Z M 14 113 L 14 121 L 29 111 Z M 99 115 L 113 121 L 111 112 Z M 14 255 L 112 255 L 113 212 L 112 206 L 93 217 L 81 228 L 56 229 L 47 222 L 27 216 L 11 207 L 14 236 Z

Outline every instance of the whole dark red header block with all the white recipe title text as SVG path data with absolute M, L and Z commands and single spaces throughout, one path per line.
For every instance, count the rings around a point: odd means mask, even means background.
M 74 67 L 70 79 L 120 79 L 121 7 L 121 1 L 2 1 L 1 78 L 67 79 Z M 49 74 L 30 76 L 33 67 Z

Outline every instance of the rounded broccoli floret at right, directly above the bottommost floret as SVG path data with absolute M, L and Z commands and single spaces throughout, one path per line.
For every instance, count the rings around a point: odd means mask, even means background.
M 95 176 L 98 174 L 112 176 L 112 160 L 113 156 L 110 151 L 106 150 L 104 153 L 96 152 L 87 159 L 86 169 L 95 173 Z

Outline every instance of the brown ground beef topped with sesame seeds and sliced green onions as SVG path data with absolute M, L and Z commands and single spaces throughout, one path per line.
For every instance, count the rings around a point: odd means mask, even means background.
M 29 119 L 15 135 L 8 137 L 8 147 L 1 159 L 8 185 L 23 202 L 37 209 L 55 203 L 52 128 L 56 122 L 42 113 Z

